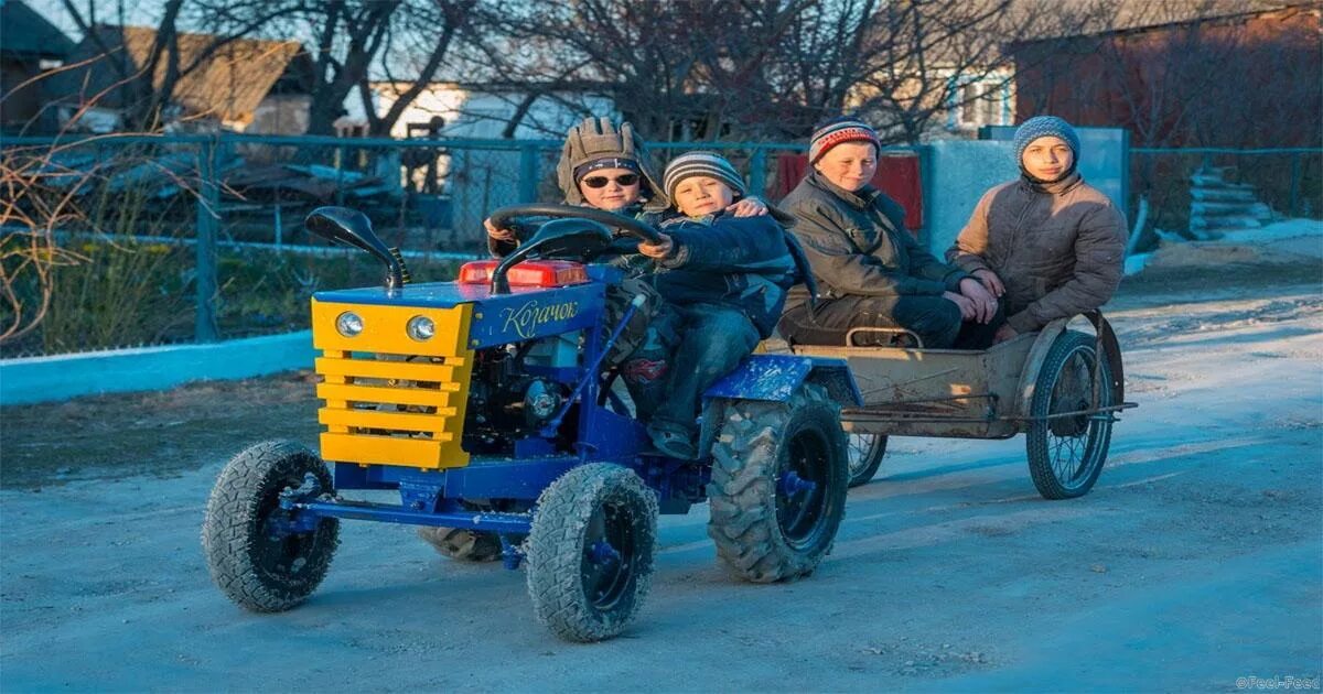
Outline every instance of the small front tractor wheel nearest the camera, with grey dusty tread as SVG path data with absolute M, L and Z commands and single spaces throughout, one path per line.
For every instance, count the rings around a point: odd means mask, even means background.
M 552 482 L 525 545 L 538 621 L 569 641 L 619 635 L 652 583 L 656 523 L 656 497 L 628 468 L 593 463 Z

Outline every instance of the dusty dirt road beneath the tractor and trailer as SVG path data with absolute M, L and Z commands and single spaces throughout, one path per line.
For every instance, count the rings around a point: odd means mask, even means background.
M 1040 500 L 1019 438 L 897 439 L 808 580 L 736 583 L 706 509 L 663 517 L 648 604 L 597 645 L 537 625 L 523 572 L 439 559 L 389 525 L 344 523 L 292 612 L 228 603 L 202 508 L 243 444 L 315 442 L 299 378 L 7 408 L 0 689 L 1318 687 L 1318 286 L 1114 304 L 1140 408 L 1088 497 Z

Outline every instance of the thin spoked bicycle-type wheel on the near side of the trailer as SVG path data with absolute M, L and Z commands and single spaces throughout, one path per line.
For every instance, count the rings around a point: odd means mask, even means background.
M 1097 371 L 1097 381 L 1094 375 Z M 1089 493 L 1111 443 L 1111 370 L 1098 364 L 1093 336 L 1068 330 L 1057 337 L 1033 386 L 1027 432 L 1029 475 L 1044 498 L 1074 498 Z M 1077 414 L 1070 414 L 1077 412 Z M 1065 416 L 1052 416 L 1065 415 Z

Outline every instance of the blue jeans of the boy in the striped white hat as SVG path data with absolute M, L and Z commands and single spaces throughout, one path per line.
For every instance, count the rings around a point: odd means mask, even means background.
M 634 397 L 639 418 L 650 426 L 697 436 L 699 399 L 703 391 L 733 370 L 758 346 L 758 330 L 744 312 L 716 304 L 671 307 L 663 321 L 673 321 L 673 349 L 658 378 L 640 378 L 626 361 L 626 385 Z M 640 348 L 640 353 L 646 350 Z M 639 354 L 639 353 L 636 353 Z M 648 354 L 643 354 L 647 357 Z M 646 362 L 655 360 L 647 358 Z

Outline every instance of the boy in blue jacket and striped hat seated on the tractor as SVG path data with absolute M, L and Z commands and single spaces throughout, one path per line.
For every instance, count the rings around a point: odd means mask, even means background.
M 726 213 L 747 190 L 720 155 L 676 157 L 663 188 L 680 214 L 662 223 L 659 243 L 640 243 L 639 252 L 656 264 L 650 279 L 671 305 L 677 344 L 665 373 L 652 374 L 655 387 L 646 389 L 655 402 L 640 403 L 640 411 L 652 412 L 648 435 L 659 451 L 693 459 L 703 391 L 771 334 L 802 264 L 779 210 Z

